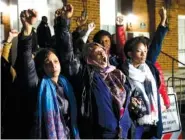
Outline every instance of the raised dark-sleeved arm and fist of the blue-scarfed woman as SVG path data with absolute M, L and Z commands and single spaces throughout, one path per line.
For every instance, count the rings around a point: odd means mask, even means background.
M 36 22 L 37 12 L 35 10 L 24 10 L 20 15 L 23 28 L 18 37 L 17 59 L 15 69 L 17 78 L 25 88 L 36 88 L 38 77 L 35 63 L 32 58 L 32 25 Z

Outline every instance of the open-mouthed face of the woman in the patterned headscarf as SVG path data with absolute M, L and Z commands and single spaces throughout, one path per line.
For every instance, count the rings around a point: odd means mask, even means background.
M 99 46 L 95 46 L 92 50 L 90 57 L 92 61 L 96 62 L 97 66 L 106 68 L 108 65 L 107 54 L 105 50 Z

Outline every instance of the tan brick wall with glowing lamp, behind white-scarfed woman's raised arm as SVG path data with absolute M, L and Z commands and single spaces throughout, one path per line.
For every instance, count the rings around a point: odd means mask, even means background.
M 154 2 L 148 0 L 132 0 L 132 12 L 138 16 L 138 23 L 133 26 L 133 31 L 150 32 L 152 35 L 160 23 L 158 11 L 162 6 L 165 6 L 163 0 L 155 0 Z M 162 51 L 176 59 L 178 59 L 178 15 L 185 15 L 184 9 L 184 0 L 172 0 L 167 10 L 170 30 L 163 41 Z M 139 28 L 141 22 L 146 23 L 145 29 Z M 171 70 L 172 60 L 169 57 L 160 54 L 158 62 L 161 64 L 163 70 Z M 175 63 L 175 69 L 178 69 L 177 63 Z

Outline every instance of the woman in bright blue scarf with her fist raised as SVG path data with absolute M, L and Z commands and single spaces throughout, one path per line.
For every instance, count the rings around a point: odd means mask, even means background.
M 32 58 L 32 25 L 37 12 L 24 10 L 20 18 L 23 30 L 16 60 L 17 85 L 22 89 L 20 111 L 24 114 L 20 116 L 19 131 L 24 132 L 20 137 L 78 139 L 75 96 L 71 84 L 60 74 L 62 67 L 57 55 L 44 48 Z

